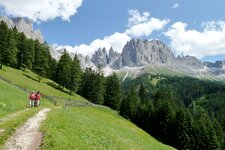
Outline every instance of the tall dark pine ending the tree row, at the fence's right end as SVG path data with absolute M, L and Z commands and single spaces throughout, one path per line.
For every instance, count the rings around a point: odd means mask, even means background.
M 116 73 L 106 79 L 104 105 L 112 109 L 119 110 L 120 108 L 120 85 Z

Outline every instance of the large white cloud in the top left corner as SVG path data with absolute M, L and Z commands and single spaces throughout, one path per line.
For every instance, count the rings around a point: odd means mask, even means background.
M 1 0 L 0 6 L 7 15 L 27 17 L 34 22 L 43 22 L 60 17 L 69 21 L 83 0 Z

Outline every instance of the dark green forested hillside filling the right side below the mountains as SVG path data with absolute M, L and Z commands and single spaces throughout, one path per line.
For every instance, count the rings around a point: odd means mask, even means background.
M 224 83 L 147 74 L 127 79 L 122 91 L 120 114 L 164 143 L 225 149 Z

